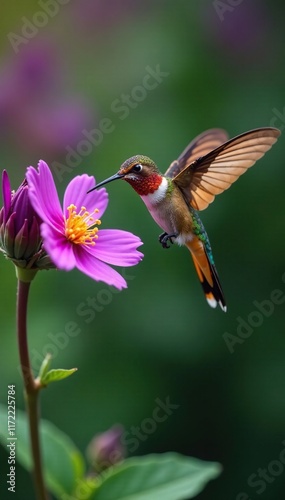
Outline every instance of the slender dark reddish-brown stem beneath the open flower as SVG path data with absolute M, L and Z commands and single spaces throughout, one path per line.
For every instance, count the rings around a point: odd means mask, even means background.
M 27 413 L 33 457 L 33 475 L 38 500 L 48 500 L 44 485 L 42 460 L 39 440 L 39 385 L 34 379 L 27 339 L 27 305 L 30 290 L 30 282 L 18 280 L 17 294 L 17 330 L 18 346 L 20 354 L 21 370 L 25 386 Z

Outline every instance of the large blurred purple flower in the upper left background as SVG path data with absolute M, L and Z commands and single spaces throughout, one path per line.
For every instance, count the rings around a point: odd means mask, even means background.
M 26 150 L 61 153 L 92 124 L 90 106 L 66 97 L 60 56 L 47 41 L 30 42 L 0 75 L 0 127 Z M 93 124 L 94 125 L 94 124 Z

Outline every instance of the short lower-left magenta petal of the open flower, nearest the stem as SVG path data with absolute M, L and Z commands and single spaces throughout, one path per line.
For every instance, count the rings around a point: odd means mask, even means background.
M 66 237 L 46 223 L 41 224 L 44 249 L 59 269 L 70 271 L 76 266 L 73 244 Z

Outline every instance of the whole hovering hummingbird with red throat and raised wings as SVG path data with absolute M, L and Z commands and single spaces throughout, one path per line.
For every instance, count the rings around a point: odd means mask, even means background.
M 254 165 L 279 135 L 278 129 L 264 127 L 228 140 L 222 129 L 207 130 L 190 142 L 165 174 L 147 156 L 136 155 L 88 192 L 116 179 L 127 181 L 163 229 L 159 236 L 162 247 L 169 248 L 173 241 L 186 245 L 208 304 L 219 304 L 226 311 L 210 241 L 197 211 L 207 208 L 217 194 Z

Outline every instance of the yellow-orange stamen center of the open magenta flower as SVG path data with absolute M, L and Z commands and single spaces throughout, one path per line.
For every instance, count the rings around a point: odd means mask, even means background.
M 77 207 L 70 205 L 67 210 L 69 215 L 65 219 L 66 238 L 76 245 L 94 246 L 94 240 L 98 238 L 98 227 L 94 226 L 101 224 L 100 219 L 94 217 L 99 212 L 98 208 L 89 213 L 85 207 L 81 207 L 80 212 L 77 213 Z

